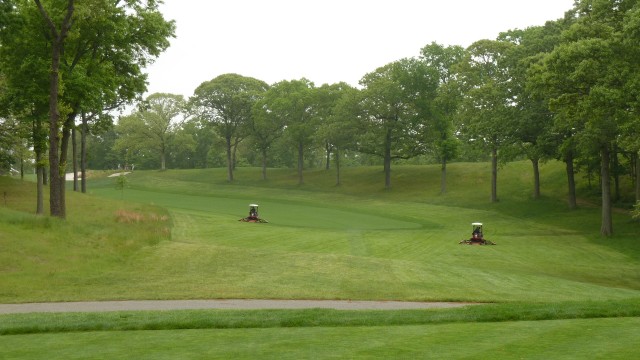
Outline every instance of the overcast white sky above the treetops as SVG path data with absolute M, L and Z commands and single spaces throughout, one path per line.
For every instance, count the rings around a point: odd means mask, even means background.
M 171 47 L 147 70 L 149 93 L 193 95 L 237 73 L 269 84 L 305 77 L 317 86 L 418 56 L 437 42 L 469 46 L 543 25 L 573 0 L 164 0 L 176 21 Z

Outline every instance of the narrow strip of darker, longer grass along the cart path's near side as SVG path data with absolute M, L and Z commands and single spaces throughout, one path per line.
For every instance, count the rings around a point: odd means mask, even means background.
M 0 315 L 0 335 L 82 331 L 398 326 L 640 317 L 640 299 L 428 310 L 179 310 Z

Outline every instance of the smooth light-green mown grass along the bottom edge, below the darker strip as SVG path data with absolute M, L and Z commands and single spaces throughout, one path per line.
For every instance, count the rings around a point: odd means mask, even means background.
M 640 318 L 0 337 L 3 359 L 633 359 Z

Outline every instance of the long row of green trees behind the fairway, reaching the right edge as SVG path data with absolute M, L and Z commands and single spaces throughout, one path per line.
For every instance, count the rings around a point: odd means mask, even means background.
M 164 24 L 160 44 L 173 31 L 171 23 Z M 2 48 L 9 46 L 6 37 Z M 55 37 L 44 38 L 49 45 Z M 508 30 L 495 40 L 467 48 L 428 44 L 419 56 L 365 74 L 357 87 L 316 86 L 304 78 L 267 84 L 224 74 L 203 82 L 188 99 L 152 94 L 113 127 L 99 121 L 106 109 L 99 99 L 95 104 L 102 107 L 75 116 L 91 124 L 81 132 L 91 134 L 93 168 L 226 166 L 229 181 L 242 163 L 260 165 L 264 179 L 269 166 L 295 167 L 301 184 L 312 161 L 327 168 L 332 162 L 337 184 L 345 162 L 382 163 L 389 188 L 394 163 L 428 158 L 441 164 L 446 192 L 448 162 L 486 156 L 490 199 L 498 201 L 501 163 L 530 160 L 533 196 L 539 197 L 540 163 L 559 159 L 566 164 L 571 208 L 577 206 L 576 173 L 597 175 L 601 233 L 608 236 L 620 176 L 633 179 L 640 199 L 639 38 L 638 1 L 579 0 L 563 18 Z M 0 55 L 4 68 L 11 56 Z M 0 86 L 8 89 L 3 94 L 10 94 L 13 73 L 2 74 Z M 16 119 L 24 123 L 28 113 L 24 105 L 18 109 L 3 115 L 4 127 Z

